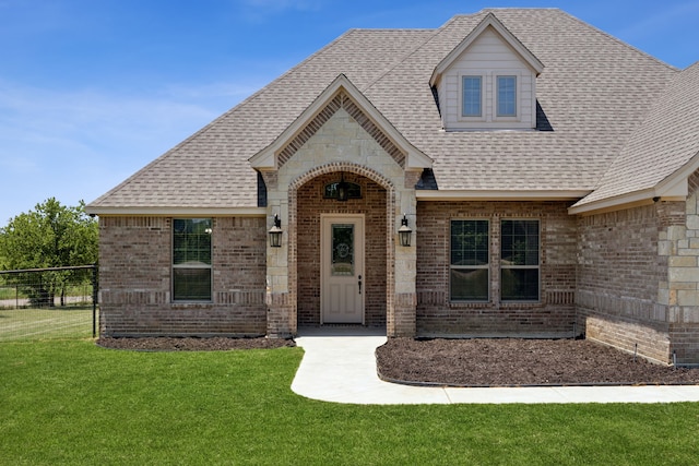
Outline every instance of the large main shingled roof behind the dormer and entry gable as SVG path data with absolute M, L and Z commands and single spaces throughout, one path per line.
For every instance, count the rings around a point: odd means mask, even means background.
M 441 129 L 429 80 L 488 13 L 544 65 L 538 130 Z M 258 207 L 249 158 L 341 74 L 434 160 L 430 194 L 446 196 L 581 198 L 595 188 L 594 195 L 614 195 L 608 190 L 618 177 L 636 176 L 624 168 L 637 153 L 631 135 L 651 124 L 649 112 L 668 86 L 682 92 L 674 68 L 556 9 L 484 10 L 437 29 L 353 29 L 92 202 L 88 212 Z

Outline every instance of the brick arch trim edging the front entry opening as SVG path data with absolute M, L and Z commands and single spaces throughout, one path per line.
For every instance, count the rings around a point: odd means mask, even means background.
M 386 312 L 387 326 L 393 320 L 395 309 L 395 251 L 393 249 L 394 214 L 396 211 L 396 192 L 394 183 L 378 171 L 352 163 L 335 162 L 316 167 L 294 180 L 288 186 L 288 292 L 293 302 L 298 298 L 298 243 L 297 243 L 297 222 L 298 222 L 298 190 L 313 178 L 346 171 L 364 176 L 386 189 Z

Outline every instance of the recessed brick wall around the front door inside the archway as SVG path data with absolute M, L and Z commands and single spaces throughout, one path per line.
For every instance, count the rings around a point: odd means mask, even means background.
M 337 174 L 319 176 L 298 190 L 298 324 L 320 323 L 320 215 L 365 214 L 365 322 L 386 325 L 386 195 L 371 180 L 345 174 L 345 181 L 362 187 L 362 199 L 339 202 L 323 199 L 325 184 L 337 181 Z

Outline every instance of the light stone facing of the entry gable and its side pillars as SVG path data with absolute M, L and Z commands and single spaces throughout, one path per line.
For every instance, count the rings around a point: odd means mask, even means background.
M 345 179 L 352 176 L 371 180 L 386 191 L 384 230 L 377 241 L 382 241 L 387 263 L 382 266 L 386 294 L 381 297 L 387 334 L 412 336 L 415 334 L 415 248 L 396 246 L 395 231 L 403 213 L 411 225 L 415 225 L 415 182 L 419 170 L 413 172 L 402 166 L 404 154 L 390 148 L 392 142 L 344 93 L 333 98 L 321 116 L 323 118 L 313 119 L 301 131 L 303 138 L 289 143 L 294 151 L 282 151 L 283 157 L 280 154 L 275 169 L 261 170 L 268 188 L 268 228 L 272 216 L 279 214 L 284 230 L 282 247 L 266 251 L 268 335 L 286 336 L 297 332 L 300 301 L 297 292 L 304 285 L 299 283 L 300 272 L 309 273 L 303 271 L 299 256 L 304 251 L 299 243 L 303 228 L 298 222 L 303 218 L 298 210 L 304 208 L 301 203 L 308 202 L 303 195 L 299 199 L 299 190 L 318 177 L 332 175 L 336 180 L 344 174 Z M 320 203 L 320 198 L 315 202 Z M 370 228 L 378 231 L 376 226 Z M 304 292 L 312 294 L 307 289 Z M 383 313 L 378 309 L 371 312 Z M 310 311 L 305 312 L 303 319 L 311 319 Z

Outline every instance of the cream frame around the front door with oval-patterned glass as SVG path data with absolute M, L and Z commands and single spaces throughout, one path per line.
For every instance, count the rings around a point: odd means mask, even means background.
M 355 260 L 355 262 L 359 262 L 359 267 L 355 271 L 355 276 L 360 275 L 363 277 L 362 282 L 362 288 L 364 288 L 364 291 L 360 294 L 362 295 L 362 325 L 366 324 L 366 300 L 365 300 L 365 296 L 366 296 L 366 273 L 365 273 L 365 263 L 366 263 L 366 216 L 365 214 L 341 214 L 341 213 L 333 213 L 333 214 L 320 214 L 320 324 L 323 325 L 325 324 L 325 310 L 324 310 L 324 298 L 325 298 L 325 292 L 327 292 L 327 277 L 329 276 L 328 274 L 330 273 L 329 268 L 329 258 L 328 258 L 328 246 L 329 242 L 331 241 L 330 237 L 328 236 L 327 230 L 327 225 L 328 224 L 332 224 L 332 223 L 336 223 L 336 224 L 342 224 L 342 223 L 348 223 L 348 222 L 358 222 L 358 224 L 360 225 L 360 232 L 362 232 L 362 238 L 360 241 L 357 241 L 357 237 L 356 237 L 356 231 L 355 231 L 355 258 L 360 258 L 360 261 Z M 359 248 L 357 248 L 358 246 L 360 246 Z M 329 322 L 329 324 L 332 324 L 334 322 Z M 350 323 L 350 322 L 348 322 Z M 356 322 L 354 324 L 359 324 L 359 322 Z

